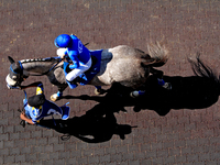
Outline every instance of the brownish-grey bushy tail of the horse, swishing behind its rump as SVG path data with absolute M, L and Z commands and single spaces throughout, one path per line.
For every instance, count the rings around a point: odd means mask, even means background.
M 150 56 L 142 56 L 144 59 L 142 64 L 151 65 L 153 67 L 161 67 L 168 61 L 168 51 L 158 42 L 156 44 L 148 44 L 147 51 Z

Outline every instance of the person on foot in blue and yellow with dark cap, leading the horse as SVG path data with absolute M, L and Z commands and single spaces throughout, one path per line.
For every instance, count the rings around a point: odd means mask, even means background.
M 66 105 L 58 107 L 55 103 L 45 99 L 43 84 L 41 81 L 33 82 L 29 86 L 22 86 L 21 89 L 36 87 L 36 95 L 23 100 L 24 112 L 20 114 L 20 118 L 30 124 L 38 124 L 40 120 L 44 117 L 52 114 L 62 116 L 63 120 L 67 120 L 69 117 L 69 107 Z

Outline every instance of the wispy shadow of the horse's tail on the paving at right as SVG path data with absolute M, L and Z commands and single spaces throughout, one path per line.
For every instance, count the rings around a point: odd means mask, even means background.
M 193 72 L 196 76 L 205 77 L 212 80 L 218 87 L 220 87 L 220 76 L 217 75 L 217 72 L 211 69 L 208 65 L 206 65 L 200 58 L 200 54 L 197 53 L 196 62 L 188 58 L 188 62 L 191 65 Z

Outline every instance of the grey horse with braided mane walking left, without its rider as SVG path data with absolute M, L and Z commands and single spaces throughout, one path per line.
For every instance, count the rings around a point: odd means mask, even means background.
M 146 81 L 150 74 L 156 75 L 163 80 L 163 72 L 154 67 L 161 67 L 168 59 L 168 51 L 160 43 L 147 45 L 148 54 L 128 45 L 119 45 L 100 51 L 100 72 L 88 82 L 96 87 L 96 92 L 103 91 L 101 86 L 110 86 L 119 82 L 131 87 L 134 91 L 132 97 L 139 97 L 144 91 L 135 90 Z M 14 62 L 8 56 L 11 65 L 10 73 L 6 78 L 9 89 L 20 88 L 22 81 L 29 76 L 46 75 L 50 81 L 57 86 L 58 92 L 51 96 L 51 100 L 61 99 L 63 91 L 68 87 L 63 68 L 64 62 L 59 57 L 22 59 Z M 163 81 L 163 87 L 170 89 L 169 82 Z

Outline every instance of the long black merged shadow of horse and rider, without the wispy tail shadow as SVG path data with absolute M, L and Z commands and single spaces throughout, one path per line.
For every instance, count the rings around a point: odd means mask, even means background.
M 142 97 L 131 98 L 132 88 L 114 84 L 107 90 L 106 96 L 64 96 L 62 99 L 95 100 L 99 102 L 81 117 L 74 117 L 66 121 L 53 120 L 41 121 L 59 133 L 62 140 L 70 136 L 78 138 L 87 143 L 101 143 L 111 140 L 113 134 L 124 140 L 125 134 L 132 131 L 131 125 L 118 124 L 114 112 L 127 111 L 125 107 L 133 107 L 135 112 L 141 110 L 154 110 L 160 116 L 166 116 L 172 109 L 204 109 L 215 105 L 219 99 L 219 78 L 212 72 L 202 76 L 168 77 L 164 79 L 172 84 L 172 90 L 166 90 L 156 85 L 156 77 L 151 76 L 146 82 L 146 94 Z

